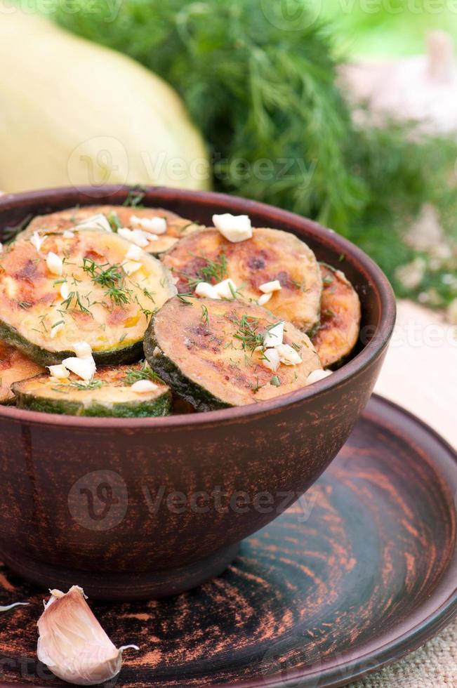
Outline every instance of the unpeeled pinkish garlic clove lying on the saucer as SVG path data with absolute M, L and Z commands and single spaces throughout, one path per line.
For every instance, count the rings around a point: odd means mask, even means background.
M 121 670 L 122 652 L 100 626 L 86 602 L 84 590 L 51 590 L 38 621 L 37 656 L 64 681 L 79 686 L 103 683 Z

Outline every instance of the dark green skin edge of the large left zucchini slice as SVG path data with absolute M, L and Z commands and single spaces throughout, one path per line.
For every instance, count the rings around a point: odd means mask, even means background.
M 0 339 L 19 349 L 40 366 L 53 366 L 62 363 L 64 358 L 74 356 L 74 351 L 48 351 L 37 344 L 32 344 L 14 327 L 0 320 Z M 110 351 L 94 351 L 93 358 L 98 365 L 117 365 L 135 363 L 141 358 L 143 342 L 140 340 L 126 346 L 119 346 Z

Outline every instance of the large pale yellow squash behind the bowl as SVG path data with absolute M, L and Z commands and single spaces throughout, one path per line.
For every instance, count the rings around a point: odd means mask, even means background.
M 0 2 L 0 189 L 208 187 L 178 95 L 120 53 Z

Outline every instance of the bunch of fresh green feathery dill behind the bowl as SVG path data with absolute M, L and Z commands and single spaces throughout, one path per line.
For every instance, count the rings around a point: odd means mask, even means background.
M 287 23 L 273 0 L 124 0 L 113 18 L 105 0 L 67 0 L 55 18 L 178 91 L 208 143 L 217 190 L 332 227 L 404 294 L 396 270 L 418 255 L 404 234 L 424 203 L 457 239 L 457 143 L 410 122 L 355 124 L 338 88 L 344 55 L 335 56 L 332 25 L 307 0 L 293 8 Z M 426 279 L 439 283 L 432 272 Z M 455 298 L 437 288 L 444 303 Z

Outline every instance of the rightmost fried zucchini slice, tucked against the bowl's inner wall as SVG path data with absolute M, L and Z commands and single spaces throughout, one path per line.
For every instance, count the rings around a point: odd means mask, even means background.
M 312 343 L 324 368 L 338 366 L 357 343 L 360 331 L 360 299 L 341 270 L 321 263 L 321 324 Z

